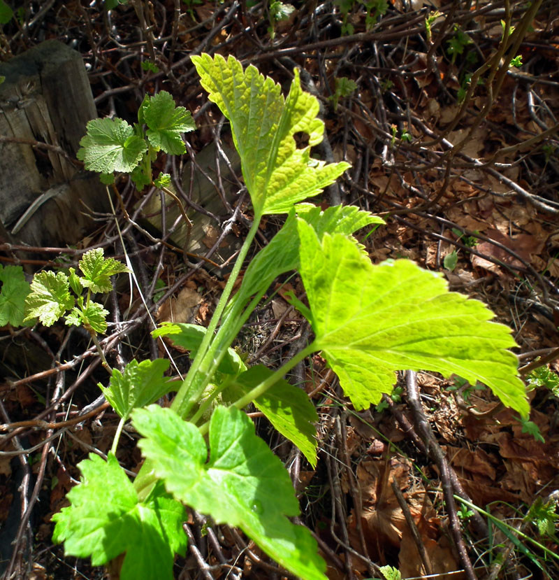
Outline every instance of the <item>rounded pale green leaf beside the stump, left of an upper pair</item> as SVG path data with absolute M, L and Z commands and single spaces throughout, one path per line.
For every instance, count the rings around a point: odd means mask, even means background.
M 130 173 L 147 150 L 145 141 L 133 133 L 122 119 L 93 119 L 87 123 L 87 134 L 80 141 L 76 157 L 85 162 L 88 171 Z

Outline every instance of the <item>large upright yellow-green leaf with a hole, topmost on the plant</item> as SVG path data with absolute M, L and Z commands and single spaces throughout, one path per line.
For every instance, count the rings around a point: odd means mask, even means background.
M 299 73 L 286 99 L 279 85 L 264 78 L 254 66 L 243 71 L 232 56 L 192 57 L 201 84 L 231 121 L 242 175 L 256 218 L 288 213 L 297 201 L 319 194 L 349 164 L 325 164 L 310 157 L 310 148 L 322 141 L 324 123 L 317 118 L 319 103 L 303 92 Z M 298 149 L 293 135 L 305 132 L 309 145 Z

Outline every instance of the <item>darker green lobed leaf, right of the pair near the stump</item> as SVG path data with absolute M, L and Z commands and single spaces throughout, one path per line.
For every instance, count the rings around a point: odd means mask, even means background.
M 175 107 L 173 97 L 161 91 L 154 97 L 144 99 L 142 115 L 149 127 L 146 134 L 152 147 L 163 149 L 170 155 L 186 153 L 180 134 L 196 129 L 190 111 L 184 107 Z

